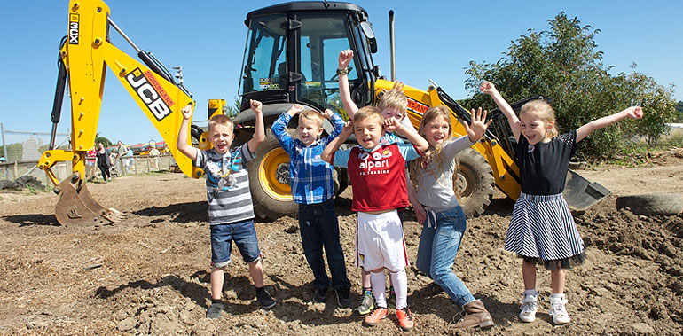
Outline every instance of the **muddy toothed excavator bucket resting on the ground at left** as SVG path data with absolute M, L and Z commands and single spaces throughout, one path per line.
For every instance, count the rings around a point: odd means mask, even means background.
M 125 215 L 118 210 L 102 207 L 92 198 L 79 172 L 55 186 L 54 191 L 59 195 L 55 216 L 64 226 L 118 223 L 125 219 Z

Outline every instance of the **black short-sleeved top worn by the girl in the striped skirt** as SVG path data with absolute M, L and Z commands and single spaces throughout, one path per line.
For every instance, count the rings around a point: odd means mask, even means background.
M 577 152 L 577 131 L 536 145 L 529 145 L 527 138 L 520 135 L 514 151 L 517 152 L 522 192 L 528 195 L 559 194 L 564 191 L 569 159 Z

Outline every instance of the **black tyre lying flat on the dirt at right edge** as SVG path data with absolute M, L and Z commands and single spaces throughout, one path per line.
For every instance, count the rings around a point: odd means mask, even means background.
M 635 215 L 678 215 L 683 211 L 683 195 L 674 192 L 617 197 L 616 209 L 624 207 Z

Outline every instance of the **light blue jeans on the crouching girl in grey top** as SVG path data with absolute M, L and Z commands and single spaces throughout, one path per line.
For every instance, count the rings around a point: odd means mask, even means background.
M 415 262 L 418 270 L 431 277 L 460 307 L 475 301 L 467 286 L 452 270 L 466 227 L 462 207 L 439 213 L 427 211 Z

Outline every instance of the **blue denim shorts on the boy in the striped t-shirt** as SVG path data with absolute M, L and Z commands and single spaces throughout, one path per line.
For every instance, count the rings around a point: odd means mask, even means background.
M 220 269 L 230 263 L 232 241 L 237 245 L 244 262 L 256 262 L 261 258 L 254 220 L 211 225 L 212 267 Z

